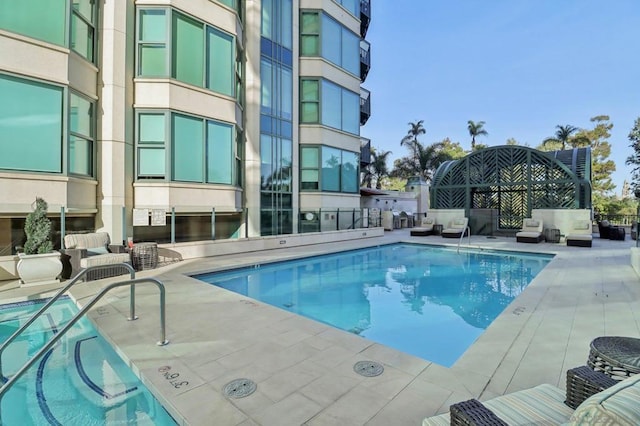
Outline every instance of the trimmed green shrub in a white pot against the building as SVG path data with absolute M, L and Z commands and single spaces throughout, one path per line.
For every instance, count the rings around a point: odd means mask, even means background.
M 59 282 L 62 272 L 60 253 L 53 251 L 51 221 L 47 218 L 47 202 L 36 197 L 34 210 L 27 215 L 24 233 L 27 241 L 19 253 L 18 274 L 23 286 Z

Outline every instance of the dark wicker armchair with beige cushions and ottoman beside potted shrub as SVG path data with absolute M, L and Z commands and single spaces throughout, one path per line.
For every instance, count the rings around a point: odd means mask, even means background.
M 85 280 L 99 280 L 128 274 L 129 270 L 122 264 L 131 263 L 129 253 L 124 246 L 112 245 L 110 242 L 107 232 L 65 235 L 65 248 L 60 250 L 62 277 L 75 277 L 82 269 L 96 265 L 113 265 L 113 267 L 90 271 L 85 275 Z

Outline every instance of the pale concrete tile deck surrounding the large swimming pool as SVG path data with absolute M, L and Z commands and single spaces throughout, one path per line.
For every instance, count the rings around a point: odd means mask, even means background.
M 563 388 L 566 370 L 585 364 L 593 338 L 640 335 L 640 279 L 630 261 L 635 241 L 601 240 L 597 234 L 592 248 L 472 236 L 476 248 L 556 256 L 451 368 L 187 276 L 397 241 L 457 244 L 438 236 L 410 237 L 402 229 L 380 238 L 216 256 L 139 272 L 138 278 L 156 277 L 166 286 L 170 344 L 162 347 L 155 344 L 159 298 L 153 285 L 137 286 L 137 321 L 126 320 L 127 289 L 109 293 L 90 316 L 176 420 L 191 425 L 419 425 L 464 399 L 490 399 L 540 383 Z M 125 279 L 80 284 L 71 295 L 83 304 L 106 282 Z M 0 298 L 5 303 L 43 291 L 0 287 Z M 362 360 L 383 364 L 384 373 L 356 374 L 353 365 Z M 166 367 L 173 376 L 165 374 Z M 224 385 L 238 378 L 256 382 L 256 392 L 241 399 L 223 396 Z

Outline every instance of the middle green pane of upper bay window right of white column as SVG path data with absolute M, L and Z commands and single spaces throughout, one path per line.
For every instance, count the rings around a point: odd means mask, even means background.
M 203 25 L 174 12 L 172 42 L 172 77 L 202 87 L 204 83 Z

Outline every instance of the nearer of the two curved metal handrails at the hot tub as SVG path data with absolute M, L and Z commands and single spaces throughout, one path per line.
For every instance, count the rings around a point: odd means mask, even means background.
M 112 265 L 113 266 L 113 265 Z M 69 323 L 67 323 L 67 325 L 65 325 L 58 333 L 55 334 L 55 336 L 53 336 L 53 338 L 51 340 L 49 340 L 47 342 L 46 345 L 44 345 L 37 354 L 35 354 L 35 356 L 33 356 L 31 359 L 29 359 L 29 361 L 27 361 L 22 368 L 20 368 L 20 370 L 18 370 L 18 372 L 16 374 L 14 374 L 13 376 L 11 376 L 11 379 L 9 379 L 9 381 L 7 383 L 5 383 L 1 388 L 0 388 L 0 402 L 2 401 L 2 397 L 4 396 L 4 394 L 11 388 L 11 386 L 14 385 L 14 383 L 20 378 L 22 377 L 22 375 L 24 373 L 27 372 L 27 370 L 33 365 L 35 364 L 35 362 L 42 356 L 44 355 L 49 349 L 51 349 L 53 347 L 53 345 L 55 345 L 58 340 L 60 340 L 62 338 L 62 336 L 65 335 L 65 333 L 67 331 L 69 331 L 69 329 L 71 327 L 74 326 L 74 324 L 76 322 L 78 322 L 78 320 L 80 320 L 80 318 L 82 316 L 84 316 L 84 314 L 87 313 L 87 311 L 89 309 L 91 309 L 93 307 L 93 305 L 95 305 L 101 298 L 102 296 L 104 296 L 105 294 L 107 294 L 110 290 L 116 288 L 116 287 L 122 287 L 125 285 L 130 285 L 130 286 L 134 286 L 136 284 L 141 284 L 141 283 L 145 283 L 145 282 L 152 282 L 154 283 L 156 286 L 158 286 L 158 289 L 160 290 L 160 341 L 157 342 L 158 346 L 164 346 L 166 344 L 169 343 L 169 341 L 166 339 L 166 335 L 165 335 L 165 290 L 164 290 L 164 284 L 156 279 L 156 278 L 138 278 L 135 280 L 128 280 L 128 281 L 120 281 L 117 283 L 113 283 L 113 284 L 109 284 L 108 286 L 104 287 L 100 293 L 96 294 L 96 296 L 91 299 L 91 301 L 89 303 L 87 303 L 81 310 L 80 312 L 78 312 L 70 321 Z M 2 417 L 0 414 L 0 424 L 2 422 Z

